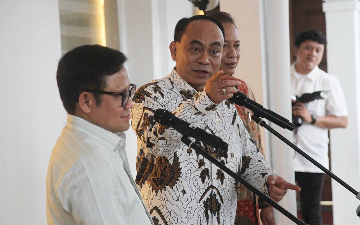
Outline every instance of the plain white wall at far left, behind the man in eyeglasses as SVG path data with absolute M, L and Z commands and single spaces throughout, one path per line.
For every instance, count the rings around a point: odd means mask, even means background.
M 58 1 L 1 1 L 0 21 L 0 224 L 46 224 L 46 172 L 66 122 Z

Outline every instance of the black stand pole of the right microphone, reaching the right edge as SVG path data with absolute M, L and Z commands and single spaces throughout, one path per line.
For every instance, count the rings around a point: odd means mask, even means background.
M 287 140 L 284 136 L 282 136 L 280 133 L 275 131 L 273 128 L 271 128 L 269 125 L 265 123 L 264 120 L 260 119 L 257 115 L 253 114 L 251 116 L 252 120 L 255 121 L 258 125 L 264 127 L 266 130 L 270 131 L 273 135 L 278 137 L 280 140 L 285 142 L 288 146 L 290 146 L 292 149 L 294 149 L 297 153 L 302 155 L 305 159 L 309 160 L 312 164 L 314 164 L 319 169 L 323 170 L 324 173 L 328 174 L 331 178 L 333 178 L 335 181 L 337 181 L 339 184 L 341 184 L 343 187 L 348 189 L 351 193 L 355 194 L 356 198 L 360 200 L 360 192 L 355 191 L 354 188 L 350 187 L 347 183 L 342 181 L 342 179 L 338 178 L 335 174 L 333 174 L 330 170 L 323 167 L 320 163 L 315 161 L 313 158 L 311 158 L 308 154 L 303 152 L 301 149 L 299 149 L 296 145 L 294 145 L 291 141 Z M 360 217 L 360 205 L 356 209 L 356 215 Z

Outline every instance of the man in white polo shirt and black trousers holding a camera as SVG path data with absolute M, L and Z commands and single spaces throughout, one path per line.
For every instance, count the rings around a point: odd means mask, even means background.
M 295 40 L 296 61 L 291 65 L 292 95 L 316 91 L 328 91 L 327 100 L 318 99 L 296 103 L 293 116 L 302 118 L 302 125 L 294 131 L 294 144 L 306 154 L 329 168 L 328 129 L 347 126 L 345 97 L 338 79 L 318 65 L 323 58 L 325 36 L 317 30 L 301 32 Z M 307 224 L 322 224 L 320 200 L 324 173 L 300 154 L 294 156 L 295 179 L 302 188 L 300 192 L 301 213 Z

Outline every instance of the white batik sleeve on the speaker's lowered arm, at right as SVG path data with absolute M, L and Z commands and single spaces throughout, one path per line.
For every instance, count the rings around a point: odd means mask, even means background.
M 266 179 L 271 174 L 278 174 L 270 167 L 259 149 L 252 142 L 239 117 L 237 117 L 237 122 L 234 126 L 237 126 L 239 129 L 240 144 L 243 151 L 240 176 L 262 193 L 269 196 L 266 188 Z

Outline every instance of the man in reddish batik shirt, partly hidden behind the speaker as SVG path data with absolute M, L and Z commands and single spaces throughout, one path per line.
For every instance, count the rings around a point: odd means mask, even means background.
M 209 11 L 207 15 L 218 20 L 224 26 L 225 40 L 220 69 L 224 71 L 224 74 L 234 75 L 240 60 L 240 39 L 234 19 L 229 13 L 218 10 Z M 249 99 L 255 101 L 254 94 L 246 83 L 238 78 L 235 79 L 241 82 L 241 84 L 237 86 L 238 90 L 246 94 Z M 261 145 L 259 125 L 251 120 L 253 113 L 243 106 L 235 104 L 235 107 L 251 139 L 255 142 L 261 154 L 264 154 Z M 236 182 L 236 192 L 238 195 L 238 204 L 235 225 L 257 225 L 260 224 L 260 219 L 264 225 L 275 225 L 274 210 L 269 203 L 258 198 L 252 191 L 238 182 Z M 261 209 L 260 215 L 259 208 Z

